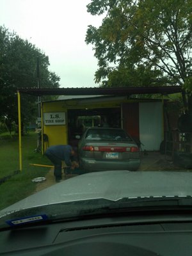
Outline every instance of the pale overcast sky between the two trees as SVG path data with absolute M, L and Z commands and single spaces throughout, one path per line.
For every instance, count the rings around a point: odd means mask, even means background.
M 97 59 L 84 42 L 88 25 L 101 17 L 86 12 L 91 0 L 0 0 L 0 25 L 15 31 L 49 56 L 61 87 L 93 87 Z

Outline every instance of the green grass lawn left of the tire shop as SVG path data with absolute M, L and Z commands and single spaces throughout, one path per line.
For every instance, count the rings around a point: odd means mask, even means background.
M 47 157 L 35 152 L 37 134 L 29 132 L 22 137 L 22 171 L 0 184 L 0 209 L 8 207 L 35 192 L 36 184 L 31 180 L 45 176 L 50 168 L 32 166 L 51 164 Z M 19 170 L 19 140 L 8 134 L 0 134 L 0 179 Z

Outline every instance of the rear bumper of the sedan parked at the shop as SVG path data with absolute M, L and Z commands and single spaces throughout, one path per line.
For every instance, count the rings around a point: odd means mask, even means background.
M 81 158 L 81 168 L 86 171 L 127 170 L 135 171 L 140 167 L 140 159 L 128 161 L 98 161 L 95 159 Z

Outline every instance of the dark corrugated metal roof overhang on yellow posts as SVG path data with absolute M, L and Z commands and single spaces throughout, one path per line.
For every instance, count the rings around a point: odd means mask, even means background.
M 152 87 L 111 87 L 111 88 L 18 88 L 19 93 L 35 96 L 43 95 L 134 95 L 172 94 L 182 92 L 181 86 Z

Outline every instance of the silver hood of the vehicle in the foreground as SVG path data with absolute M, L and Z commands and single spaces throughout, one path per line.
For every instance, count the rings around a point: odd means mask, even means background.
M 31 207 L 105 198 L 136 198 L 148 196 L 192 196 L 190 172 L 93 172 L 63 180 L 49 188 L 28 196 L 24 200 L 0 211 L 8 212 Z

